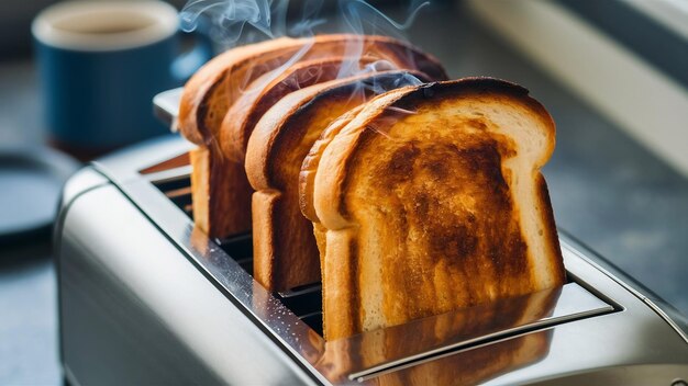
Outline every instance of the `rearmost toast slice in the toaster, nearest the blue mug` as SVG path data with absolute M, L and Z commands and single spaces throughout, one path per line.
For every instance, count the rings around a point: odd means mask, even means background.
M 421 68 L 432 79 L 446 79 L 439 61 L 413 46 L 386 36 L 319 35 L 277 38 L 231 49 L 203 66 L 185 86 L 178 127 L 201 147 L 192 155 L 193 216 L 210 236 L 224 237 L 251 229 L 248 183 L 241 164 L 221 152 L 219 135 L 232 104 L 254 80 L 292 61 L 343 56 L 360 44 L 365 57 L 399 68 Z M 298 55 L 297 55 L 298 54 Z M 295 56 L 297 55 L 297 56 Z M 229 192 L 229 193 L 226 193 Z

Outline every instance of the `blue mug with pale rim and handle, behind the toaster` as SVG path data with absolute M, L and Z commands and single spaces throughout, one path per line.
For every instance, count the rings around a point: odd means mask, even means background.
M 32 33 L 51 143 L 89 158 L 167 133 L 153 96 L 212 56 L 202 38 L 180 55 L 178 25 L 163 1 L 68 1 L 42 11 Z

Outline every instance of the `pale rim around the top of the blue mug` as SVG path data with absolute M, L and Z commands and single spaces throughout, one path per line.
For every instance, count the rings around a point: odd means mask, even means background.
M 152 24 L 133 31 L 108 34 L 74 32 L 55 26 L 67 18 L 87 16 L 89 13 L 133 12 L 145 14 Z M 31 25 L 36 41 L 64 49 L 108 52 L 143 47 L 164 41 L 179 27 L 177 10 L 163 1 L 88 1 L 76 0 L 55 3 L 38 13 Z

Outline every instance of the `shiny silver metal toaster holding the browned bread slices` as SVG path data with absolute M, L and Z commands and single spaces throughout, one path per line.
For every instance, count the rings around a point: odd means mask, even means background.
M 176 98 L 156 98 L 160 117 Z M 195 228 L 192 146 L 157 138 L 66 184 L 54 241 L 67 383 L 687 385 L 685 319 L 563 230 L 563 287 L 325 341 L 320 284 L 270 293 L 252 276 L 251 235 Z

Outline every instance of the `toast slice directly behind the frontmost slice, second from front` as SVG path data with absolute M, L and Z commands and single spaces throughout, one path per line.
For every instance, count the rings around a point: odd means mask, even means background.
M 246 150 L 253 194 L 254 277 L 268 290 L 285 291 L 320 281 L 311 223 L 299 209 L 299 172 L 321 132 L 339 115 L 379 92 L 402 84 L 387 71 L 333 80 L 292 92 L 268 110 Z

